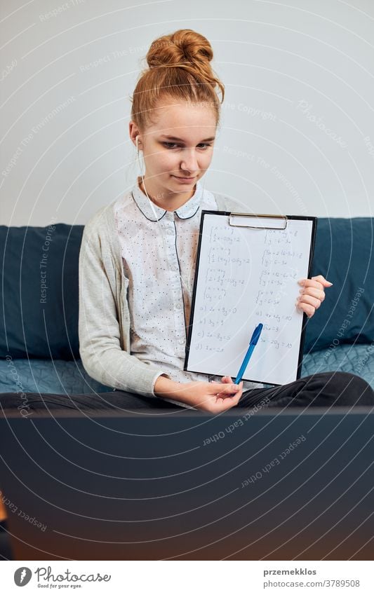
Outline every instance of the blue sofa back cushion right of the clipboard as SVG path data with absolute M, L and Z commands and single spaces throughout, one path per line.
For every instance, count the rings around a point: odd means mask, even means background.
M 319 218 L 312 276 L 333 282 L 307 322 L 304 353 L 374 340 L 374 219 Z

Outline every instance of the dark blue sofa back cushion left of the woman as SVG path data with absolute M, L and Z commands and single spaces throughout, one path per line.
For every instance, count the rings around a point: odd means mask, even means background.
M 0 226 L 0 357 L 79 357 L 78 261 L 84 226 Z

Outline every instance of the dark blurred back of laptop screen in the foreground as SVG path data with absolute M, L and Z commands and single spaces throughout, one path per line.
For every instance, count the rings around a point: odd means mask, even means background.
M 373 559 L 373 427 L 365 407 L 3 412 L 13 557 Z

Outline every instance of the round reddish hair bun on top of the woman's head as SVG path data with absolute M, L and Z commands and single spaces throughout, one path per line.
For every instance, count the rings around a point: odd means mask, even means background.
M 179 29 L 173 34 L 156 39 L 147 52 L 149 68 L 203 67 L 213 59 L 211 43 L 192 29 Z

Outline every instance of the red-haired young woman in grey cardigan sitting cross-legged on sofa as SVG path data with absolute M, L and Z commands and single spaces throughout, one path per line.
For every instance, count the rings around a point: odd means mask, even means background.
M 201 210 L 239 206 L 200 182 L 220 119 L 216 88 L 224 97 L 212 58 L 208 40 L 190 29 L 156 39 L 149 48 L 149 68 L 136 85 L 129 125 L 144 172 L 84 229 L 79 258 L 84 367 L 116 390 L 104 395 L 113 406 L 218 413 L 265 397 L 268 406 L 373 404 L 373 391 L 351 374 L 315 374 L 264 388 L 183 371 Z M 322 275 L 300 280 L 297 307 L 311 317 L 330 285 Z

